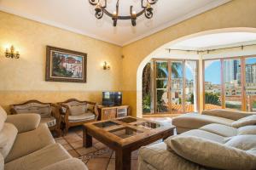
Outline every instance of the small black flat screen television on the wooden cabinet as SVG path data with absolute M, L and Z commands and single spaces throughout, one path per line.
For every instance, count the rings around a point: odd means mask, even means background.
M 121 92 L 102 92 L 102 105 L 116 106 L 122 105 Z

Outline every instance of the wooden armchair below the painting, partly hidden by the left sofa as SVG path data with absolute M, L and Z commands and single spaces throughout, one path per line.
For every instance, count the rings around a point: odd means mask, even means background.
M 59 105 L 29 100 L 23 104 L 10 105 L 11 114 L 37 113 L 41 116 L 41 123 L 46 123 L 50 131 L 61 136 L 61 114 Z

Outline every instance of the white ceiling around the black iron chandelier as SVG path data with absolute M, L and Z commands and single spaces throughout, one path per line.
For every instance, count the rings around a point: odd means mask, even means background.
M 116 0 L 107 1 L 108 11 L 113 12 Z M 97 20 L 88 0 L 0 0 L 0 10 L 123 46 L 227 2 L 230 0 L 159 0 L 153 19 L 140 17 L 136 27 L 131 20 L 119 20 L 113 27 L 106 15 Z M 140 10 L 140 0 L 120 0 L 119 13 L 129 14 L 130 5 Z

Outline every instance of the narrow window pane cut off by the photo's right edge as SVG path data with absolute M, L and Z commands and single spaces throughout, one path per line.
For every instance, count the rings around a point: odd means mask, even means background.
M 247 111 L 256 111 L 256 58 L 245 60 Z

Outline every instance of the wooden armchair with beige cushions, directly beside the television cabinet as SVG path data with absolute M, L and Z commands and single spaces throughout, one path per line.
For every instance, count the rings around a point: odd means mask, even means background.
M 65 133 L 69 127 L 79 126 L 98 119 L 99 113 L 95 102 L 67 99 L 58 105 L 61 108 L 61 120 L 65 125 Z

